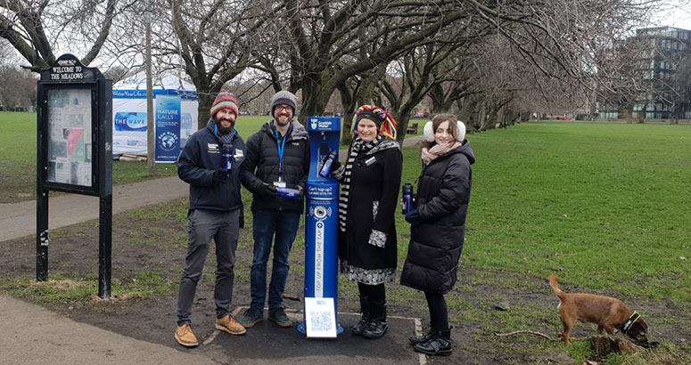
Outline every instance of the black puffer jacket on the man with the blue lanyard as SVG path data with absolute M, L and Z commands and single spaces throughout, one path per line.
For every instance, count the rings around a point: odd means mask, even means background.
M 286 187 L 300 185 L 305 191 L 309 174 L 309 142 L 307 130 L 297 120 L 292 120 L 286 134 L 283 158 L 283 181 Z M 264 184 L 278 181 L 280 158 L 278 157 L 278 139 L 276 128 L 271 120 L 261 126 L 259 132 L 247 139 L 247 158 L 240 171 L 243 186 L 251 191 L 252 212 L 257 210 L 290 210 L 304 212 L 302 199 L 288 199 L 269 194 Z

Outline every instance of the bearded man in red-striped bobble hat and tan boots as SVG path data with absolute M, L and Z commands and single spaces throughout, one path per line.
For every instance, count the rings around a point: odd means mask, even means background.
M 185 143 L 177 158 L 177 175 L 190 184 L 187 256 L 177 298 L 177 329 L 180 345 L 199 345 L 190 316 L 197 282 L 202 277 L 211 239 L 216 242 L 216 328 L 232 335 L 246 329 L 230 315 L 233 299 L 235 248 L 240 233 L 243 201 L 240 198 L 240 166 L 245 145 L 235 130 L 237 99 L 232 93 L 218 93 L 206 128 Z

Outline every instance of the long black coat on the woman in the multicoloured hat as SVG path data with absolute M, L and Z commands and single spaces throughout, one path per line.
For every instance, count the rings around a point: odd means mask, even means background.
M 346 231 L 339 231 L 339 257 L 363 274 L 377 269 L 396 269 L 398 241 L 394 212 L 399 207 L 403 155 L 398 147 L 372 154 L 360 153 L 352 168 Z M 376 207 L 375 207 L 376 206 Z M 376 211 L 376 215 L 374 215 Z M 372 230 L 386 233 L 384 247 L 369 243 Z

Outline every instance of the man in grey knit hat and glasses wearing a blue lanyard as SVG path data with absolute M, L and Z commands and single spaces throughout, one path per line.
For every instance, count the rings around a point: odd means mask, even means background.
M 271 98 L 274 119 L 247 140 L 247 159 L 241 179 L 252 196 L 254 258 L 251 269 L 251 305 L 238 322 L 250 328 L 264 319 L 267 297 L 267 262 L 276 234 L 271 281 L 268 285 L 268 319 L 291 327 L 285 315 L 283 294 L 288 279 L 288 256 L 300 226 L 304 191 L 309 173 L 307 130 L 293 119 L 297 97 L 287 91 Z

